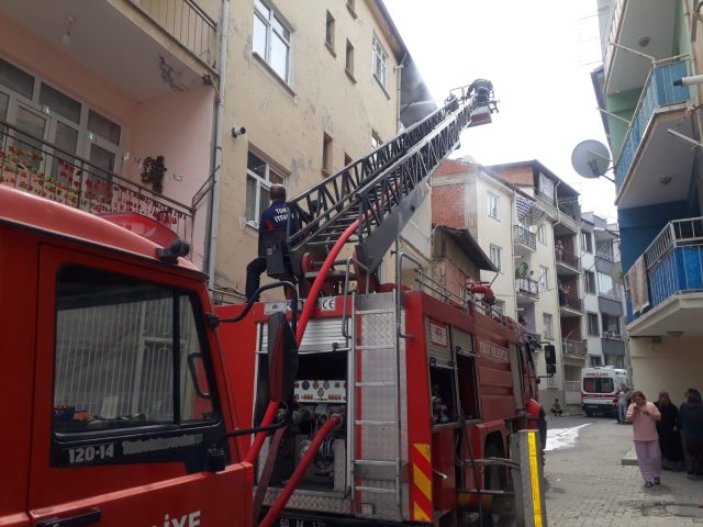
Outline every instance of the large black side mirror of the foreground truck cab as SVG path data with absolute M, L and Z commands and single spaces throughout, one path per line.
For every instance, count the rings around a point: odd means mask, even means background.
M 284 313 L 268 319 L 269 397 L 277 403 L 288 401 L 298 375 L 298 344 Z

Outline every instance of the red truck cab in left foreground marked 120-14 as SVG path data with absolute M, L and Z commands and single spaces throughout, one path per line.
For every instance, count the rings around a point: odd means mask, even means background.
M 0 186 L 0 525 L 252 525 L 252 466 L 221 441 L 237 419 L 194 266 Z

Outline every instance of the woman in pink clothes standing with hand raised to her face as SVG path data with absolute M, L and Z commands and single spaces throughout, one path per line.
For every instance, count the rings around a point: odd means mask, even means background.
M 645 394 L 639 390 L 633 392 L 633 403 L 627 408 L 627 421 L 633 424 L 637 464 L 647 487 L 661 482 L 661 453 L 657 435 L 659 419 L 661 414 L 657 406 L 648 403 Z

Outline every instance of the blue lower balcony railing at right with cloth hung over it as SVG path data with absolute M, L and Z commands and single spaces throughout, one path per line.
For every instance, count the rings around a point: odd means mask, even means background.
M 703 291 L 703 217 L 670 222 L 645 250 L 650 304 Z

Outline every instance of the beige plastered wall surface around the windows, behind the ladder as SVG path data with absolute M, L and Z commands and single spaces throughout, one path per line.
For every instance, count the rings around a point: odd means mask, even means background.
M 227 96 L 224 130 L 245 126 L 244 136 L 225 134 L 222 158 L 216 282 L 244 291 L 246 264 L 256 255 L 257 233 L 246 224 L 246 157 L 249 148 L 288 175 L 289 197 L 323 179 L 323 133 L 333 138 L 333 170 L 370 152 L 371 132 L 395 135 L 398 59 L 387 31 L 367 2 L 353 18 L 344 2 L 269 2 L 292 30 L 292 74 L 286 85 L 253 54 L 254 1 L 231 3 Z M 335 19 L 334 56 L 325 46 L 326 11 Z M 371 75 L 372 37 L 388 52 L 388 87 Z M 345 72 L 346 40 L 355 47 L 354 79 Z

